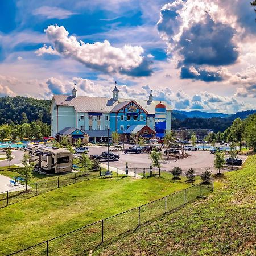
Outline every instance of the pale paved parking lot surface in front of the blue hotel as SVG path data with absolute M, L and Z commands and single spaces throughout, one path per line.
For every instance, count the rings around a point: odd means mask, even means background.
M 127 146 L 129 147 L 129 146 Z M 107 147 L 89 147 L 88 155 L 101 154 L 102 151 L 106 151 Z M 164 149 L 162 149 L 164 152 Z M 119 161 L 110 161 L 109 166 L 125 169 L 126 162 L 129 168 L 149 168 L 151 160 L 150 154 L 124 154 L 122 151 L 115 152 L 120 155 Z M 190 151 L 187 158 L 180 160 L 168 160 L 167 162 L 161 161 L 161 169 L 170 171 L 175 166 L 179 166 L 183 171 L 187 171 L 188 168 L 193 168 L 196 174 L 201 174 L 205 171 L 205 168 L 209 168 L 214 174 L 218 172 L 213 167 L 214 164 L 214 154 L 210 154 L 209 151 Z M 243 160 L 246 160 L 246 156 L 239 156 Z M 106 162 L 103 162 L 106 163 Z M 222 170 L 224 172 L 225 170 Z

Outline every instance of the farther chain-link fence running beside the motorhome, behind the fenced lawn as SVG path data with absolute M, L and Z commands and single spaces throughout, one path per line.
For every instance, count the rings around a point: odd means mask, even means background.
M 28 183 L 27 185 L 22 185 L 22 187 L 20 187 L 23 190 L 17 191 L 16 188 L 14 188 L 10 189 L 9 191 L 0 193 L 0 208 L 33 196 L 38 196 L 53 189 L 65 187 L 67 185 L 79 183 L 85 180 L 90 180 L 95 177 L 100 177 L 99 170 L 72 172 L 71 174 L 49 177 L 36 183 Z

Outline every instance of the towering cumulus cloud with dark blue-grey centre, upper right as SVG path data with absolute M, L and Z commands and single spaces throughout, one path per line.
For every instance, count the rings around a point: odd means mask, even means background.
M 176 0 L 162 7 L 158 31 L 167 53 L 181 68 L 181 79 L 222 81 L 226 79 L 222 68 L 213 67 L 236 63 L 236 30 L 217 19 L 216 10 L 218 6 L 208 0 Z

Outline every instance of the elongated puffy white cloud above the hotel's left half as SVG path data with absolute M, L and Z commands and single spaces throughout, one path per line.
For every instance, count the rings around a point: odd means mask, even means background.
M 144 49 L 141 46 L 125 45 L 122 48 L 113 47 L 108 40 L 93 44 L 77 41 L 63 26 L 48 26 L 44 30 L 52 47 L 42 47 L 36 54 L 54 54 L 57 52 L 63 57 L 75 59 L 96 71 L 105 73 L 120 73 L 129 76 L 150 76 L 151 61 L 142 56 Z M 53 52 L 55 51 L 55 52 Z

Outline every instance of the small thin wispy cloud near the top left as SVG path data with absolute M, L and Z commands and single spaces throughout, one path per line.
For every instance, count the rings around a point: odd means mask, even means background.
M 33 11 L 34 15 L 40 15 L 47 19 L 67 19 L 74 15 L 72 11 L 55 6 L 41 6 Z

